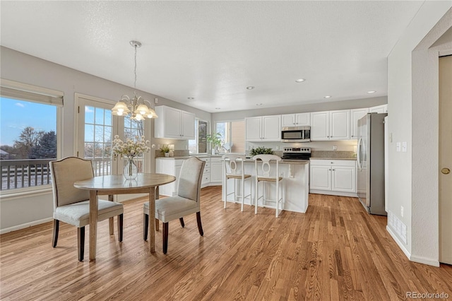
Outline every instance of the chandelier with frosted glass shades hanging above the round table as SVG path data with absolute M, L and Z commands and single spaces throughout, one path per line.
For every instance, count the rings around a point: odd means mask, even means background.
M 135 69 L 133 69 L 135 81 L 133 82 L 133 88 L 136 89 L 136 49 L 141 47 L 141 42 L 130 41 L 130 45 L 135 48 Z M 145 102 L 149 103 L 149 107 L 145 105 Z M 112 114 L 115 116 L 126 116 L 129 114 L 130 119 L 137 121 L 141 121 L 146 118 L 158 118 L 157 114 L 152 109 L 150 102 L 148 100 L 144 100 L 141 96 L 137 96 L 136 90 L 133 91 L 132 98 L 128 95 L 122 95 L 121 100 L 114 105 Z

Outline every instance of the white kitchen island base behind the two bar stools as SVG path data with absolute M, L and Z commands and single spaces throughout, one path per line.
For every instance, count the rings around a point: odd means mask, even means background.
M 271 164 L 272 171 L 275 172 L 275 163 Z M 258 168 L 261 168 L 261 163 L 258 163 Z M 254 165 L 254 160 L 246 159 L 244 161 L 245 173 L 251 175 L 251 180 L 245 181 L 245 195 L 249 194 L 251 189 L 251 201 L 249 198 L 245 199 L 244 203 L 246 205 L 254 206 L 254 198 L 256 190 L 255 185 L 255 175 L 256 168 Z M 283 210 L 285 211 L 295 211 L 300 213 L 306 213 L 308 208 L 308 198 L 309 198 L 309 160 L 281 160 L 279 163 L 279 172 L 283 177 L 283 181 L 280 182 L 280 189 L 283 187 Z M 233 191 L 234 185 L 232 184 L 233 179 L 229 179 L 230 184 L 227 185 L 227 193 Z M 271 187 L 270 187 L 271 186 Z M 274 185 L 267 185 L 267 194 L 275 195 Z M 237 193 L 239 194 L 239 186 L 237 185 Z M 259 194 L 261 194 L 262 186 L 259 184 Z M 225 191 L 225 171 L 223 170 L 222 177 L 222 200 L 224 201 L 226 195 Z M 228 196 L 227 201 L 233 202 L 234 195 Z M 237 199 L 237 203 L 241 201 Z M 260 206 L 260 204 L 258 204 Z

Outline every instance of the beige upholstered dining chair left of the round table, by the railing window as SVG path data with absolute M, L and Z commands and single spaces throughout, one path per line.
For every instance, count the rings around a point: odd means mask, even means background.
M 57 247 L 59 221 L 77 227 L 78 260 L 83 261 L 85 225 L 90 223 L 90 191 L 77 189 L 73 183 L 94 177 L 90 160 L 68 157 L 50 162 L 54 197 L 54 234 L 52 246 Z M 118 239 L 122 242 L 124 206 L 114 201 L 98 200 L 97 220 L 118 216 Z M 112 233 L 112 228 L 110 230 Z

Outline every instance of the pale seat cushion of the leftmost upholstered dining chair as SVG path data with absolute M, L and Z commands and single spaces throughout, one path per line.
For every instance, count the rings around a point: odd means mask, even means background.
M 97 220 L 105 220 L 124 213 L 124 206 L 114 201 L 98 200 Z M 90 201 L 59 206 L 54 211 L 54 219 L 75 225 L 78 228 L 90 223 Z

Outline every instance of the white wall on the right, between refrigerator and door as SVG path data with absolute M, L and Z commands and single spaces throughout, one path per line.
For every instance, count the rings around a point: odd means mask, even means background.
M 425 1 L 388 56 L 388 132 L 393 136 L 388 148 L 388 210 L 407 226 L 407 242 L 390 225 L 388 231 L 412 261 L 436 266 L 438 52 L 435 57 L 428 48 L 451 28 L 451 4 Z M 396 152 L 396 142 L 401 141 L 408 143 L 407 153 Z

